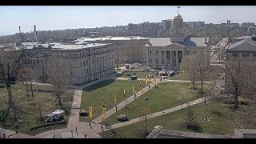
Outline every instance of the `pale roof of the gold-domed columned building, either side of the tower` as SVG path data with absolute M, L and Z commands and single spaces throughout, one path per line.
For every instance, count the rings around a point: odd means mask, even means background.
M 206 38 L 185 38 L 184 42 L 170 42 L 170 38 L 150 38 L 146 46 L 169 46 L 176 44 L 181 46 L 207 46 L 209 37 Z

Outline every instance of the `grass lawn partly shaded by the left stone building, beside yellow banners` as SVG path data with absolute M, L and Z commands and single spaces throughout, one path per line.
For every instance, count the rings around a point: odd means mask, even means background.
M 117 95 L 117 104 L 124 100 L 123 90 L 126 89 L 126 98 L 132 95 L 132 86 L 139 90 L 139 81 L 122 81 L 122 80 L 106 80 L 98 82 L 92 86 L 86 87 L 82 91 L 81 109 L 89 110 L 89 106 L 93 107 L 93 118 L 97 118 L 102 114 L 102 102 L 106 110 L 114 105 L 114 93 Z M 89 121 L 89 117 L 80 117 L 80 122 Z

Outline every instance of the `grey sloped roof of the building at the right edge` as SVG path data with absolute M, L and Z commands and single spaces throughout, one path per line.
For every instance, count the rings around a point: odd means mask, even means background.
M 233 50 L 256 50 L 256 41 L 252 40 L 242 40 L 238 42 L 234 42 L 230 46 L 226 48 L 226 51 Z

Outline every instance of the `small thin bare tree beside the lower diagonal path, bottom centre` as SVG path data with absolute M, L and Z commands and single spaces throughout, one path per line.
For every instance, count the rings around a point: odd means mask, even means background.
M 142 107 L 141 114 L 142 114 L 141 121 L 144 121 L 142 122 L 142 126 L 145 128 L 145 133 L 149 134 L 148 133 L 148 126 L 150 124 L 149 119 L 150 117 L 152 117 L 150 108 L 148 106 Z

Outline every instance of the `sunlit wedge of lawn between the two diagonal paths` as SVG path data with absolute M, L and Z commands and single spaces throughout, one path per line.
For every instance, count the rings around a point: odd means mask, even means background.
M 134 102 L 127 105 L 127 109 L 122 108 L 116 114 L 106 118 L 107 122 L 117 123 L 117 116 L 119 114 L 128 115 L 129 119 L 138 118 L 141 116 L 141 111 L 145 107 L 150 110 L 150 113 L 158 112 L 163 108 L 164 110 L 174 106 L 181 105 L 182 103 L 193 101 L 197 98 L 201 98 L 202 94 L 199 90 L 191 89 L 191 83 L 182 82 L 162 82 L 158 84 L 158 87 L 154 87 L 152 90 L 147 91 L 145 94 L 137 98 Z M 196 84 L 199 88 L 199 84 Z M 204 84 L 204 91 L 210 91 L 211 85 Z M 145 97 L 149 98 L 148 101 Z

